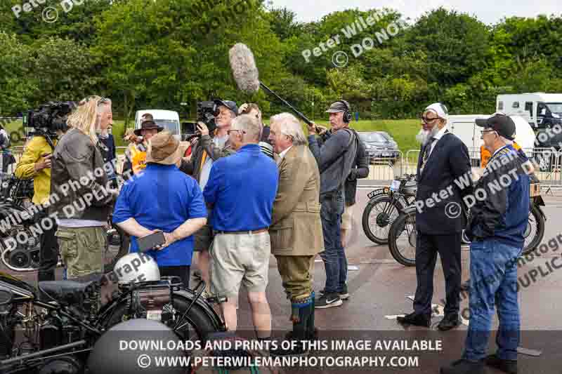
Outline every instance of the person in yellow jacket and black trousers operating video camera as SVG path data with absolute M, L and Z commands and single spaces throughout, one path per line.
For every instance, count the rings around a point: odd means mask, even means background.
M 63 126 L 56 130 L 56 136 L 60 138 L 66 129 L 66 126 Z M 53 139 L 53 145 L 56 145 L 56 142 L 57 140 Z M 15 167 L 16 177 L 20 179 L 33 178 L 32 203 L 37 206 L 46 204 L 51 194 L 51 156 L 53 156 L 53 150 L 45 136 L 35 135 L 25 145 L 25 151 Z M 42 207 L 39 209 L 37 218 L 39 220 L 52 220 L 52 218 L 48 218 L 46 210 Z M 51 225 L 44 224 L 44 227 L 51 227 L 51 229 L 44 229 L 41 235 L 37 281 L 54 281 L 58 263 L 58 242 L 55 239 L 56 222 L 52 220 Z

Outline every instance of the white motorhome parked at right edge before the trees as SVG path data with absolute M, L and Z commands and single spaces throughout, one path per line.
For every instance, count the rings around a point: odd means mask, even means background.
M 549 128 L 562 124 L 562 93 L 497 95 L 496 110 L 508 116 L 521 116 L 533 128 Z

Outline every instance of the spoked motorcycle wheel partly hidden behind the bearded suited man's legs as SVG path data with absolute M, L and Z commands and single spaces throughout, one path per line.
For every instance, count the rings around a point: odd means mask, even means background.
M 401 213 L 388 234 L 392 257 L 405 266 L 416 265 L 416 212 Z

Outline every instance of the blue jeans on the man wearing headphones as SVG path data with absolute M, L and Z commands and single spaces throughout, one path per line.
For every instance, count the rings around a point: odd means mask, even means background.
M 341 246 L 341 215 L 344 214 L 344 196 L 322 196 L 320 218 L 325 251 L 320 253 L 326 268 L 325 293 L 344 290 L 347 279 L 347 258 Z

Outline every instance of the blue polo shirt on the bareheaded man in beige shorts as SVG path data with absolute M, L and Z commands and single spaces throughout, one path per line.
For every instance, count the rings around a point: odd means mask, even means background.
M 277 194 L 277 164 L 259 145 L 244 145 L 214 161 L 203 196 L 213 206 L 211 226 L 218 231 L 269 227 Z

